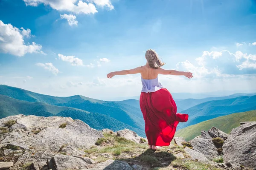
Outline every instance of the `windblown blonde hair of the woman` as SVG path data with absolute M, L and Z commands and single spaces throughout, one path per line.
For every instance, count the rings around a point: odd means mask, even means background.
M 151 50 L 151 49 L 147 50 L 145 57 L 148 61 L 148 65 L 150 68 L 160 68 L 163 65 L 165 65 L 165 63 L 159 59 L 156 51 L 154 50 Z

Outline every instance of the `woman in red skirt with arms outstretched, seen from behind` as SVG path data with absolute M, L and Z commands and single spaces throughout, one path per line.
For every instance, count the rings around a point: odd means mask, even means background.
M 107 75 L 141 74 L 143 89 L 140 94 L 140 109 L 145 120 L 145 133 L 149 148 L 156 150 L 157 146 L 169 146 L 179 122 L 186 122 L 187 114 L 177 113 L 177 106 L 170 92 L 158 82 L 158 74 L 170 74 L 192 78 L 192 73 L 165 70 L 163 63 L 154 50 L 147 50 L 146 65 L 131 70 L 115 71 Z

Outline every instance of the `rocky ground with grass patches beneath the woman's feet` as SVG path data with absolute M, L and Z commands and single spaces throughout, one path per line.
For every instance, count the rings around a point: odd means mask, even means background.
M 256 122 L 241 124 L 230 135 L 212 127 L 153 151 L 128 129 L 100 132 L 66 117 L 9 116 L 0 119 L 0 170 L 254 170 Z

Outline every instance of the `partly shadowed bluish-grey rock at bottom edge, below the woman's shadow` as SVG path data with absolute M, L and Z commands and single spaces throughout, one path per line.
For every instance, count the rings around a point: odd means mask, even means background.
M 133 168 L 124 161 L 114 161 L 109 159 L 105 162 L 96 164 L 95 167 L 87 170 L 133 170 Z

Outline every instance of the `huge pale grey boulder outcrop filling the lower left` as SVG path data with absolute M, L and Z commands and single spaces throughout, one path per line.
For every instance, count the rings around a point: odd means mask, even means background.
M 9 132 L 0 135 L 0 146 L 4 147 L 4 154 L 18 156 L 14 166 L 32 162 L 36 170 L 52 165 L 67 169 L 71 168 L 71 164 L 73 167 L 88 168 L 87 165 L 94 162 L 81 157 L 85 155 L 83 150 L 95 146 L 99 138 L 104 138 L 102 132 L 70 117 L 20 114 L 0 119 L 0 127 L 10 120 L 10 127 L 6 127 Z M 6 145 L 11 148 L 6 148 Z M 12 147 L 17 149 L 12 150 Z

